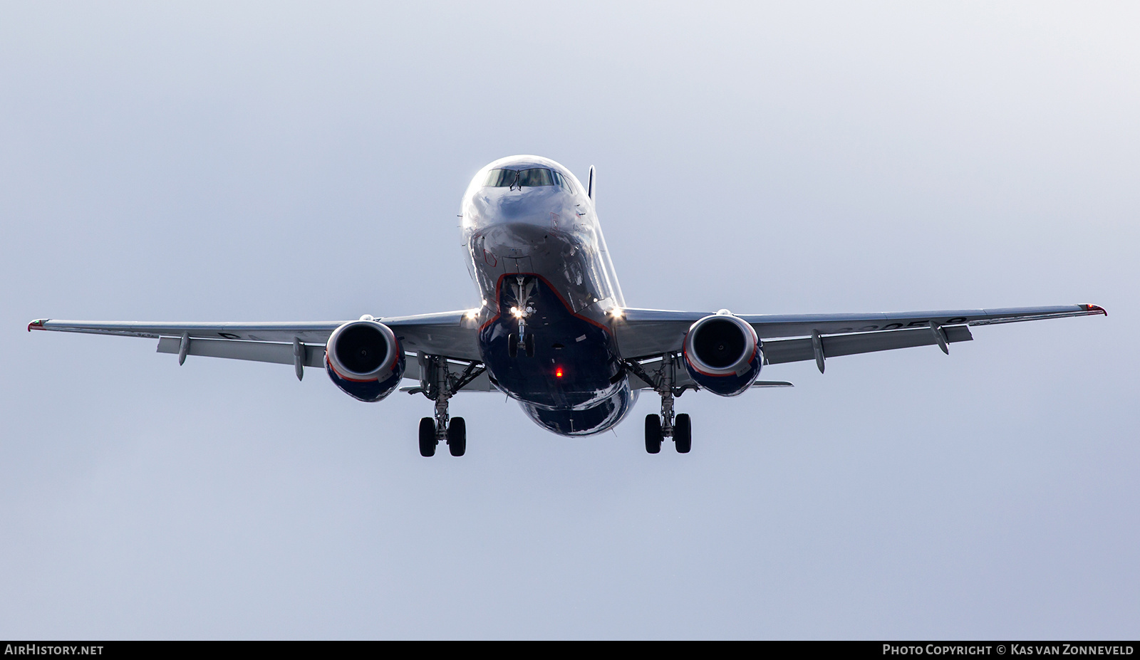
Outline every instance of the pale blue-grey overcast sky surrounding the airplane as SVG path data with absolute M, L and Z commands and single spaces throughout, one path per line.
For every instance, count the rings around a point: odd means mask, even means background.
M 1140 634 L 1134 3 L 0 5 L 0 637 Z M 1108 318 L 567 439 L 25 332 L 472 307 L 459 197 L 598 172 L 627 303 Z

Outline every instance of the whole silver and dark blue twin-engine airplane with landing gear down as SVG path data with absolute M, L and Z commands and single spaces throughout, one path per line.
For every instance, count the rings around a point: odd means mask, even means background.
M 661 397 L 645 417 L 645 450 L 665 440 L 687 454 L 692 422 L 675 412 L 689 390 L 720 397 L 758 386 L 764 365 L 972 340 L 971 326 L 1105 315 L 1096 304 L 895 313 L 735 315 L 626 307 L 595 211 L 594 168 L 586 185 L 540 156 L 484 165 L 461 204 L 474 309 L 406 317 L 300 323 L 141 323 L 38 319 L 27 329 L 158 340 L 157 352 L 324 368 L 360 401 L 396 390 L 434 404 L 420 421 L 420 454 L 440 442 L 466 451 L 466 423 L 449 415 L 463 392 L 498 391 L 539 426 L 561 435 L 608 431 L 641 392 Z M 402 380 L 418 381 L 400 386 Z

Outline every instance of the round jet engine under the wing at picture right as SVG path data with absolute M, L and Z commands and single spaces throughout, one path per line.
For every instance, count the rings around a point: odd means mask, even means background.
M 690 326 L 683 352 L 690 377 L 722 397 L 744 392 L 760 375 L 763 353 L 756 331 L 726 309 Z

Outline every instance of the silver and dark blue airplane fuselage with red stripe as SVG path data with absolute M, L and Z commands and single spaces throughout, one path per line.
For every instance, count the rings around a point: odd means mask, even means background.
M 555 433 L 618 424 L 636 400 L 612 332 L 625 300 L 581 182 L 548 158 L 500 158 L 475 174 L 462 210 L 492 382 Z

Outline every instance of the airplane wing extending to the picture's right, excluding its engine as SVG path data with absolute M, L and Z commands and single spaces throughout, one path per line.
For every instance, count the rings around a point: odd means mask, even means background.
M 618 347 L 626 359 L 643 359 L 682 348 L 694 321 L 712 312 L 624 309 L 614 320 Z M 824 357 L 969 341 L 968 326 L 1106 315 L 1096 304 L 966 309 L 890 313 L 739 315 L 764 340 L 769 364 L 822 362 Z M 809 337 L 815 337 L 815 340 Z M 805 339 L 783 339 L 805 337 Z M 819 341 L 819 345 L 815 341 Z

